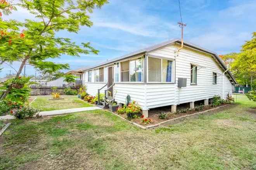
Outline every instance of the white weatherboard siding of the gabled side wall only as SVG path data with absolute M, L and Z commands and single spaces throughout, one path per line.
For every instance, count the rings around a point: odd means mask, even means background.
M 176 84 L 173 86 L 173 88 L 166 89 L 164 89 L 164 85 L 151 85 L 153 87 L 155 86 L 156 90 L 155 92 L 147 92 L 147 96 L 150 96 L 150 93 L 154 93 L 156 95 L 156 100 L 152 102 L 152 105 L 147 104 L 147 106 L 152 108 L 153 106 L 163 106 L 164 103 L 166 103 L 166 105 L 171 105 L 168 103 L 182 104 L 186 102 L 194 102 L 197 100 L 210 99 L 214 95 L 220 95 L 222 97 L 223 70 L 218 66 L 216 61 L 214 61 L 213 57 L 208 54 L 199 53 L 191 49 L 183 48 L 180 50 L 179 55 L 175 58 L 176 54 L 174 52 L 177 49 L 178 47 L 175 46 L 167 46 L 149 53 L 149 56 L 152 54 L 155 56 L 175 59 Z M 199 65 L 197 68 L 197 85 L 190 85 L 191 63 Z M 200 66 L 204 66 L 206 68 L 201 68 Z M 218 74 L 217 84 L 213 84 L 213 72 Z M 177 84 L 178 77 L 187 78 L 187 87 L 180 88 L 180 91 Z M 232 92 L 232 84 L 229 82 L 227 76 L 225 76 L 224 85 L 224 95 L 226 97 L 228 92 Z M 163 93 L 161 93 L 162 91 L 159 92 L 159 89 L 163 89 Z M 162 103 L 158 102 L 158 100 L 162 100 L 162 97 L 164 98 L 163 94 L 165 95 L 167 93 L 173 93 L 173 98 L 171 99 L 170 96 Z M 179 98 L 180 100 L 178 100 Z

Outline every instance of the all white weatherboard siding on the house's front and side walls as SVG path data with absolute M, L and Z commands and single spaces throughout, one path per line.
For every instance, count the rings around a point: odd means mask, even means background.
M 216 63 L 213 56 L 182 48 L 177 56 L 175 51 L 179 48 L 170 45 L 148 53 L 152 57 L 158 56 L 174 61 L 175 83 L 127 83 L 118 82 L 114 85 L 114 93 L 117 91 L 116 102 L 125 104 L 125 98 L 129 94 L 131 100 L 135 100 L 143 109 L 177 105 L 187 102 L 195 102 L 203 99 L 213 98 L 214 95 L 223 96 L 223 69 Z M 197 85 L 190 85 L 190 64 L 197 65 Z M 205 68 L 202 68 L 204 66 Z M 213 84 L 213 72 L 217 73 L 217 84 Z M 119 74 L 120 75 L 120 74 Z M 187 87 L 178 88 L 178 78 L 187 78 Z M 93 83 L 94 71 L 92 71 L 92 82 L 88 82 L 88 72 L 83 76 L 83 82 L 87 92 L 95 96 L 97 90 L 106 83 Z M 228 77 L 224 76 L 224 98 L 227 93 L 232 92 L 232 84 Z M 107 82 L 107 67 L 104 68 L 104 82 Z M 104 87 L 100 92 L 104 93 Z

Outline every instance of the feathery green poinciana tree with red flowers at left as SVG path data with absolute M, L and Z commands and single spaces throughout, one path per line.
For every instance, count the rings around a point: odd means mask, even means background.
M 20 61 L 16 74 L 18 78 L 25 64 L 54 74 L 61 69 L 68 69 L 69 65 L 47 61 L 49 58 L 59 58 L 62 54 L 97 54 L 98 50 L 90 46 L 90 42 L 78 45 L 69 38 L 57 37 L 55 34 L 62 30 L 78 33 L 80 26 L 91 27 L 93 23 L 88 14 L 105 3 L 107 0 L 20 0 L 16 4 L 1 3 L 3 14 L 10 14 L 8 9 L 15 9 L 19 5 L 37 19 L 18 22 L 0 18 L 0 59 Z M 2 93 L 1 99 L 5 98 L 11 88 Z

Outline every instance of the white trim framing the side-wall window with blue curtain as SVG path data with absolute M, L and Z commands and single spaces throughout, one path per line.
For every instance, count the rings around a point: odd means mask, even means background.
M 149 57 L 150 58 L 157 58 L 157 59 L 161 59 L 161 82 L 149 82 Z M 163 82 L 163 59 L 169 60 L 169 61 L 173 61 L 172 63 L 172 67 L 171 67 L 171 71 L 172 71 L 172 75 L 171 75 L 171 82 Z M 160 56 L 154 56 L 154 55 L 147 55 L 147 83 L 170 83 L 173 84 L 175 83 L 175 59 L 173 58 L 167 58 L 167 57 L 160 57 Z

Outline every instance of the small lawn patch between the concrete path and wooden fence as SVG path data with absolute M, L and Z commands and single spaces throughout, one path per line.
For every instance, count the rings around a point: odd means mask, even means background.
M 90 107 L 92 105 L 80 100 L 76 95 L 63 95 L 63 100 L 49 100 L 52 96 L 38 96 L 36 100 L 31 104 L 32 107 L 40 109 L 42 111 L 50 110 L 61 110 L 61 109 L 71 109 L 78 107 Z

